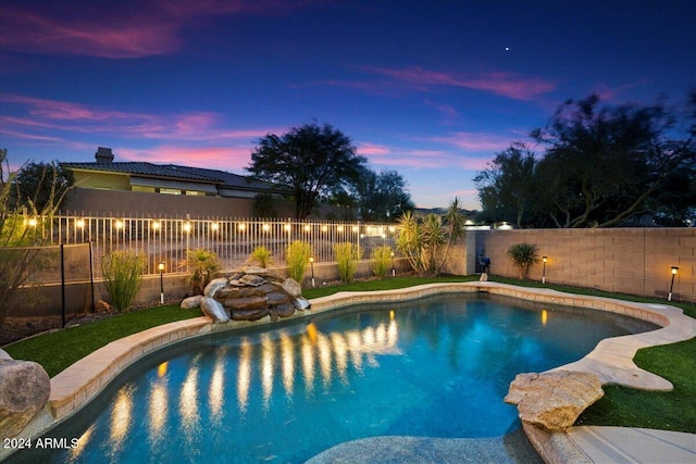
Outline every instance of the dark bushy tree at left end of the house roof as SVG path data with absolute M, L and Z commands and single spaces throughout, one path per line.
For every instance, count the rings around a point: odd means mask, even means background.
M 20 206 L 27 208 L 32 214 L 42 212 L 45 215 L 49 208 L 53 209 L 52 213 L 60 209 L 75 178 L 57 162 L 32 162 L 17 172 L 15 181 Z

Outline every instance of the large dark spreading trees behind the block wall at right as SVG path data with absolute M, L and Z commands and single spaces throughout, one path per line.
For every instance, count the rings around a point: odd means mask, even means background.
M 691 96 L 696 109 L 696 90 Z M 662 103 L 600 106 L 599 98 L 568 100 L 524 145 L 498 153 L 480 172 L 480 199 L 487 216 L 545 227 L 611 227 L 652 221 L 685 224 L 696 190 L 696 110 L 680 117 Z M 493 213 L 492 213 L 493 212 Z

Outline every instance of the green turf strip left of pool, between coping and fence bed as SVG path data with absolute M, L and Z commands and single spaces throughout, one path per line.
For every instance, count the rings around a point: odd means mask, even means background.
M 113 340 L 162 324 L 201 316 L 200 310 L 182 310 L 178 304 L 149 308 L 133 313 L 39 335 L 3 348 L 15 360 L 35 361 L 50 377 Z

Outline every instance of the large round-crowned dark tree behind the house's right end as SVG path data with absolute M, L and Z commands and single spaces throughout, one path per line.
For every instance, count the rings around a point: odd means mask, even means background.
M 328 124 L 304 124 L 283 136 L 261 138 L 247 171 L 258 179 L 288 187 L 296 217 L 306 218 L 320 200 L 355 184 L 365 163 L 340 130 Z

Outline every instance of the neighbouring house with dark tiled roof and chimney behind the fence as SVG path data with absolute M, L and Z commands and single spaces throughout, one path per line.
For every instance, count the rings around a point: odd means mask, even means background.
M 114 162 L 110 148 L 99 147 L 95 162 L 61 163 L 73 173 L 75 188 L 65 208 L 113 215 L 256 215 L 257 196 L 274 200 L 279 216 L 291 216 L 286 191 L 274 184 L 225 171 L 148 162 Z M 173 200 L 172 196 L 176 196 Z

